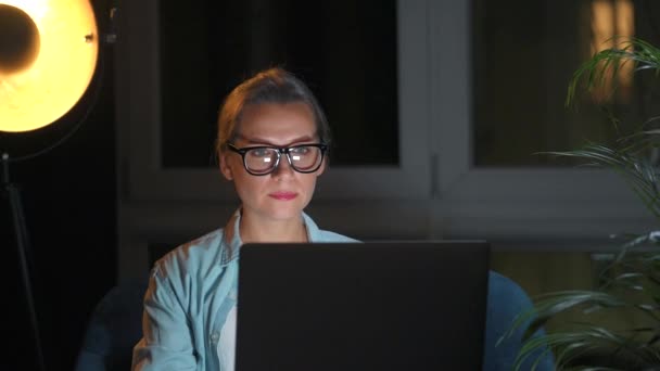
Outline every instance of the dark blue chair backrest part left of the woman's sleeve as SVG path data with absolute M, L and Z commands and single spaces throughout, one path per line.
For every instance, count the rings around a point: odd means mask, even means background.
M 112 287 L 89 320 L 76 371 L 130 370 L 132 347 L 142 336 L 142 300 L 148 280 Z

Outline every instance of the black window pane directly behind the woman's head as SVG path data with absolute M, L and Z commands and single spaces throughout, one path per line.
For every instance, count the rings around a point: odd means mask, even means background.
M 397 165 L 396 2 L 163 0 L 164 167 L 214 166 L 220 100 L 281 65 L 309 84 L 334 135 L 334 165 Z

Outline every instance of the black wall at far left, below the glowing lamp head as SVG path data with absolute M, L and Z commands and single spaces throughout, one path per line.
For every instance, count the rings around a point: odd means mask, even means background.
M 107 14 L 106 1 L 96 1 Z M 98 16 L 98 15 L 97 15 Z M 98 16 L 100 29 L 106 20 Z M 116 281 L 115 123 L 112 46 L 102 44 L 97 75 L 79 104 L 52 127 L 22 136 L 0 133 L 12 157 L 37 151 L 78 130 L 35 158 L 10 164 L 21 189 L 29 238 L 27 251 L 48 370 L 72 370 L 96 303 Z M 13 218 L 1 200 L 0 246 L 4 253 L 3 295 L 12 346 L 0 369 L 36 370 L 35 346 L 21 279 Z

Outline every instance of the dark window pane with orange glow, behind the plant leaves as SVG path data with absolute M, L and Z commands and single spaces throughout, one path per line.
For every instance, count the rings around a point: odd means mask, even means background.
M 606 106 L 629 128 L 638 124 L 649 108 L 644 98 L 649 91 L 631 68 L 615 77 L 619 89 L 611 97 L 609 88 L 583 94 L 576 111 L 566 107 L 564 99 L 573 72 L 593 53 L 611 47 L 608 39 L 649 35 L 645 27 L 651 23 L 638 21 L 640 3 L 474 0 L 474 164 L 573 165 L 536 153 L 614 140 Z M 606 105 L 596 104 L 604 100 Z

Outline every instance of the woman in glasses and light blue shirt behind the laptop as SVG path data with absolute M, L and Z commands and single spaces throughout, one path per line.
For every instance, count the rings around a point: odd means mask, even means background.
M 280 68 L 238 86 L 218 118 L 220 171 L 241 207 L 224 229 L 160 259 L 144 297 L 136 370 L 233 370 L 239 247 L 352 242 L 303 212 L 326 168 L 330 130 L 309 89 Z

